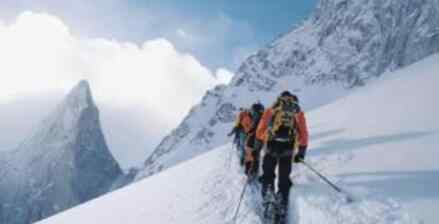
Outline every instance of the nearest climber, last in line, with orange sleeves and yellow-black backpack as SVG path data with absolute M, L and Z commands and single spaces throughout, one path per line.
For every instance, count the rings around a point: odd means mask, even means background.
M 297 137 L 299 149 L 294 156 L 294 162 L 299 163 L 305 158 L 308 146 L 308 130 L 305 114 L 299 107 L 297 96 L 288 91 L 282 92 L 274 105 L 262 115 L 256 135 L 267 144 L 263 158 L 262 196 L 265 198 L 267 191 L 274 191 L 275 168 L 278 166 L 278 192 L 276 194 L 279 204 L 286 212 L 290 188 L 290 180 L 294 145 Z

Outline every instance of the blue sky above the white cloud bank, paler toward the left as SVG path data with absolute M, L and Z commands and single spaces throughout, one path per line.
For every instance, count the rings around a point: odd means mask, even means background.
M 0 18 L 22 11 L 60 17 L 76 35 L 142 43 L 164 37 L 210 69 L 236 69 L 250 53 L 310 14 L 317 0 L 2 0 Z

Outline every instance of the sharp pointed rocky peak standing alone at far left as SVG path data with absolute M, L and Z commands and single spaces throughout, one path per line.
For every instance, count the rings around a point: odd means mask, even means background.
M 16 150 L 1 155 L 0 173 L 0 223 L 31 223 L 110 190 L 122 171 L 86 81 Z

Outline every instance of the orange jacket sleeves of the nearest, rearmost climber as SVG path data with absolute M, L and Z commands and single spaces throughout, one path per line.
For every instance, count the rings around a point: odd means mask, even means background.
M 261 121 L 259 122 L 258 129 L 256 130 L 256 137 L 264 142 L 268 141 L 268 125 L 270 124 L 271 118 L 273 116 L 273 109 L 267 109 L 262 115 Z M 308 145 L 308 127 L 306 125 L 305 113 L 302 111 L 295 115 L 296 128 L 297 128 L 297 138 L 299 145 Z

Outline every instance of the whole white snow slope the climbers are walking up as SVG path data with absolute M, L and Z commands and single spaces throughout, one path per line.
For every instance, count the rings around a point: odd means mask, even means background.
M 308 113 L 307 160 L 356 200 L 296 164 L 290 223 L 436 223 L 437 71 L 439 54 Z M 241 172 L 225 145 L 40 223 L 229 223 Z M 257 195 L 247 192 L 237 223 L 260 223 Z

